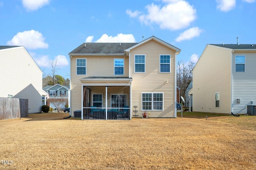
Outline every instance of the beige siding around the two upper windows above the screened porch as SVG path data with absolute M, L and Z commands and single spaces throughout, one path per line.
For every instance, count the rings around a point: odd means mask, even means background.
M 76 59 L 86 59 L 86 75 L 76 75 Z M 124 75 L 114 75 L 114 59 L 124 59 Z M 72 56 L 70 59 L 71 79 L 71 116 L 75 110 L 82 109 L 82 83 L 80 78 L 98 77 L 128 77 L 128 56 Z

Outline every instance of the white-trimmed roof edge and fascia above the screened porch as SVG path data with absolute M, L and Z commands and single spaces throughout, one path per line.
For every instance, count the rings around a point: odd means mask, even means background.
M 91 86 L 130 86 L 132 83 L 129 77 L 85 77 L 79 80 Z

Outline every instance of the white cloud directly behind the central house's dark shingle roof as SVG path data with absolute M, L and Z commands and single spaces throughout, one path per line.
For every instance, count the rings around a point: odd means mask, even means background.
M 96 43 L 135 43 L 135 38 L 132 34 L 119 33 L 115 37 L 103 34 L 100 39 L 95 41 Z

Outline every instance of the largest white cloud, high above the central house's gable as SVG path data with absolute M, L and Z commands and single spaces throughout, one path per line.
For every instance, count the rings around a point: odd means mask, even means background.
M 196 10 L 187 1 L 162 0 L 162 2 L 168 4 L 164 6 L 155 5 L 154 3 L 147 5 L 147 14 L 138 16 L 139 20 L 145 25 L 155 23 L 161 29 L 170 30 L 179 30 L 188 27 L 192 21 L 196 20 Z M 138 12 L 136 13 L 135 11 L 133 13 L 137 14 Z M 133 13 L 128 11 L 130 16 Z

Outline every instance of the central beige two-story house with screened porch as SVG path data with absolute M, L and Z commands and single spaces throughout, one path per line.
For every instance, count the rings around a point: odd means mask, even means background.
M 146 111 L 176 117 L 180 51 L 154 36 L 140 43 L 82 43 L 69 53 L 71 116 L 131 119 Z

